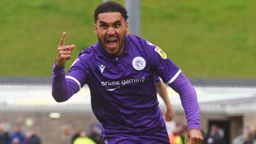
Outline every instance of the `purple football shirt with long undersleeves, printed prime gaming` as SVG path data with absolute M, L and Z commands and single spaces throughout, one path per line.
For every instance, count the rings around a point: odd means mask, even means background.
M 154 132 L 165 124 L 158 106 L 155 74 L 182 93 L 188 129 L 200 129 L 194 88 L 183 90 L 184 86 L 191 85 L 181 70 L 158 46 L 145 39 L 126 35 L 124 52 L 119 57 L 109 55 L 96 43 L 79 54 L 66 79 L 63 71 L 54 65 L 54 99 L 65 101 L 87 84 L 92 111 L 102 124 L 103 133 Z M 61 85 L 66 87 L 65 90 Z M 60 98 L 58 95 L 63 93 L 66 93 L 65 97 Z

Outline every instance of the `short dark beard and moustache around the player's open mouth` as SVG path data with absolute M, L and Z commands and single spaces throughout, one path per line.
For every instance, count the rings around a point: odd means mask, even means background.
M 118 39 L 117 52 L 114 53 L 114 54 L 111 54 L 111 55 L 118 55 L 119 52 L 124 49 L 124 44 L 125 44 L 125 40 L 126 40 L 126 39 L 125 39 L 125 38 L 126 38 L 126 37 L 125 37 L 125 31 L 124 31 L 124 36 L 121 37 L 121 39 L 120 39 L 119 36 L 117 36 L 116 34 L 115 34 L 115 35 L 108 35 L 108 34 L 107 34 L 104 39 L 101 39 L 98 34 L 97 34 L 97 37 L 98 37 L 98 41 L 100 42 L 100 45 L 103 47 L 103 49 L 104 49 L 105 51 L 106 51 L 106 49 L 107 49 L 107 47 L 106 47 L 106 40 L 105 40 L 105 39 L 107 39 L 107 38 L 109 38 L 109 37 L 116 37 L 116 38 Z M 107 52 L 107 51 L 106 51 L 106 52 Z M 108 53 L 108 52 L 107 52 L 107 53 Z

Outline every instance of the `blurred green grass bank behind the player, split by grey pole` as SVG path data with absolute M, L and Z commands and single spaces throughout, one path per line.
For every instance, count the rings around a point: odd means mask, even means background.
M 97 42 L 102 1 L 1 0 L 0 76 L 51 76 L 62 31 L 79 51 Z M 123 1 L 117 1 L 123 4 Z M 142 0 L 141 35 L 189 78 L 256 78 L 256 1 Z

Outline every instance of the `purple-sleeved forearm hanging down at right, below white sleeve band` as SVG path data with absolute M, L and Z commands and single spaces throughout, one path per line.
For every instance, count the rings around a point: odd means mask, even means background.
M 194 87 L 182 73 L 169 86 L 180 95 L 187 116 L 188 130 L 193 128 L 200 130 L 199 106 Z

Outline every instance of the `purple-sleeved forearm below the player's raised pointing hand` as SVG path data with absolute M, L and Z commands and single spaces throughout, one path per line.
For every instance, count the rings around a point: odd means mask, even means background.
M 65 68 L 53 66 L 52 73 L 52 96 L 57 102 L 68 100 L 75 93 L 74 82 L 65 78 Z

